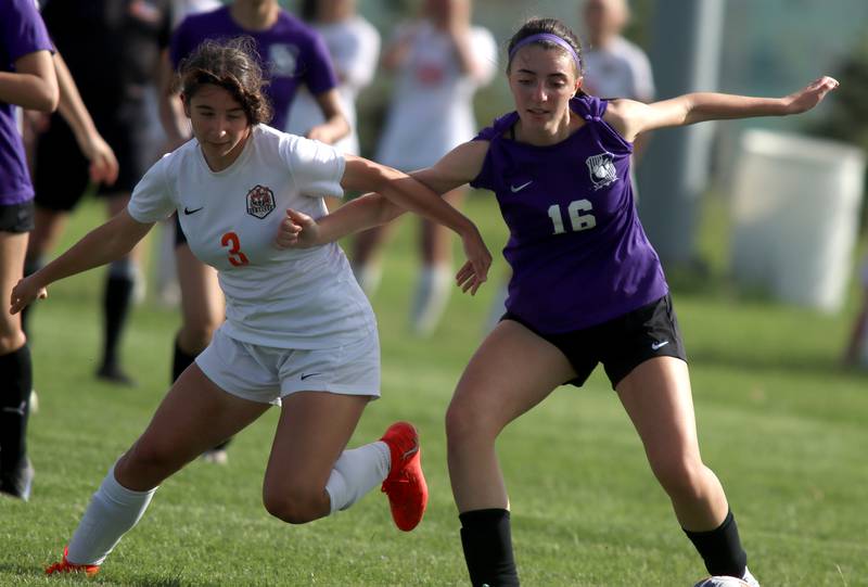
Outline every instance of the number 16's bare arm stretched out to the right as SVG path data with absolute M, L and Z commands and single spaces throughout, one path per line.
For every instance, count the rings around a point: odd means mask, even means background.
M 829 76 L 820 77 L 799 91 L 782 98 L 757 98 L 716 92 L 687 93 L 652 104 L 614 100 L 604 119 L 631 141 L 640 132 L 655 128 L 685 126 L 705 120 L 787 116 L 807 112 L 838 87 Z

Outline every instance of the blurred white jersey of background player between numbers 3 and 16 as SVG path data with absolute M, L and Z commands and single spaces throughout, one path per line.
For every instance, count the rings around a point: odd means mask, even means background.
M 471 53 L 483 69 L 476 78 L 461 72 L 449 36 L 427 23 L 408 25 L 408 56 L 380 139 L 376 161 L 410 171 L 429 167 L 476 135 L 473 94 L 497 69 L 497 43 L 485 28 L 471 27 Z

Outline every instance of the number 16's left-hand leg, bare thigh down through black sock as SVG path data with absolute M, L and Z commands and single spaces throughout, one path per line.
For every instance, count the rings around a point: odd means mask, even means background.
M 474 585 L 519 580 L 495 441 L 509 422 L 575 377 L 557 347 L 511 320 L 495 328 L 461 375 L 446 412 L 446 439 L 461 544 Z

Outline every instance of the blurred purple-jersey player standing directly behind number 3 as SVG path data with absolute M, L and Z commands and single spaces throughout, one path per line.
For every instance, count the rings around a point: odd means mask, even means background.
M 349 132 L 341 109 L 337 78 L 322 38 L 308 25 L 281 9 L 277 0 L 235 0 L 217 10 L 191 14 L 171 35 L 169 60 L 163 62 L 161 78 L 174 79 L 173 71 L 206 39 L 250 36 L 264 66 L 268 85 L 265 93 L 273 106 L 271 125 L 283 130 L 290 105 L 301 87 L 306 87 L 320 107 L 323 123 L 308 128 L 306 136 L 334 143 Z M 161 117 L 170 144 L 189 138 L 189 126 L 177 89 L 164 85 Z M 186 214 L 184 210 L 181 214 Z M 214 268 L 200 261 L 190 251 L 187 238 L 176 227 L 176 263 L 181 290 L 181 328 L 175 339 L 173 380 L 187 369 L 210 342 L 225 314 L 225 301 Z M 204 455 L 225 462 L 226 446 Z

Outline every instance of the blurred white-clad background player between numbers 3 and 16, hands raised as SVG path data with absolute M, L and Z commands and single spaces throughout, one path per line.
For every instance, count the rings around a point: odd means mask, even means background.
M 492 34 L 471 24 L 471 0 L 425 0 L 419 18 L 401 25 L 385 49 L 382 65 L 397 76 L 396 88 L 374 158 L 412 171 L 434 164 L 476 131 L 473 95 L 492 81 L 497 46 Z M 459 205 L 465 190 L 446 194 Z M 378 227 L 356 238 L 353 269 L 368 295 L 380 282 Z M 420 270 L 411 308 L 411 328 L 433 332 L 452 289 L 451 237 L 422 221 Z

